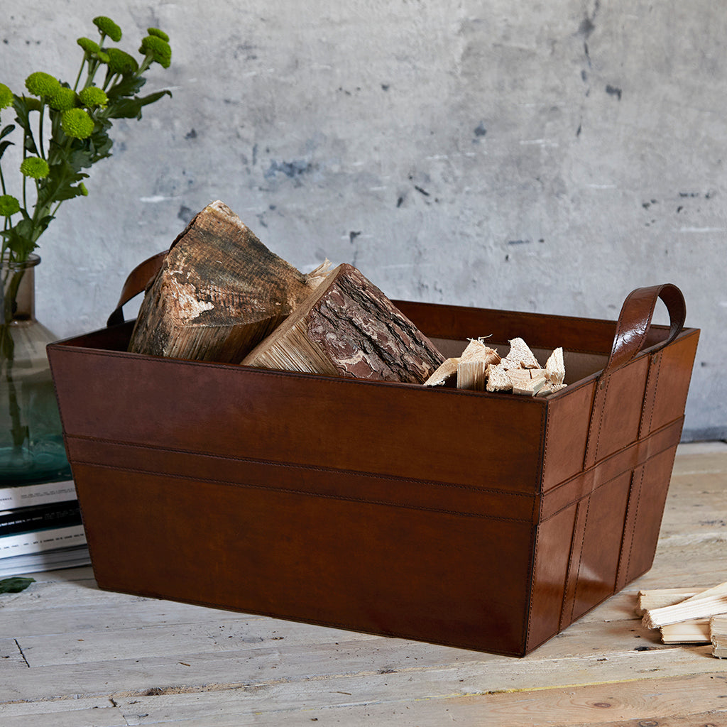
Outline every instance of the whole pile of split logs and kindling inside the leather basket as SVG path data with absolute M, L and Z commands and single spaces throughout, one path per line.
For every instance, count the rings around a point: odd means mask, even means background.
M 213 202 L 172 243 L 129 351 L 531 396 L 565 387 L 562 348 L 541 366 L 521 338 L 504 358 L 480 338 L 445 359 L 360 270 L 329 268 L 301 273 Z

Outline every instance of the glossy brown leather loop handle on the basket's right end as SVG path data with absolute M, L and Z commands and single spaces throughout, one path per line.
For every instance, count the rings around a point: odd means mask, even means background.
M 610 374 L 627 364 L 643 349 L 659 298 L 667 306 L 670 321 L 669 336 L 659 344 L 659 348 L 671 343 L 679 335 L 686 320 L 686 303 L 680 289 L 671 283 L 635 289 L 622 305 L 614 345 L 603 374 Z

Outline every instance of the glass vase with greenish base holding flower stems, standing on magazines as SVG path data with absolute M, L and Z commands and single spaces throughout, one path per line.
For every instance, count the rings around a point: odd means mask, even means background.
M 56 337 L 35 317 L 39 262 L 0 264 L 0 486 L 71 479 L 45 350 Z

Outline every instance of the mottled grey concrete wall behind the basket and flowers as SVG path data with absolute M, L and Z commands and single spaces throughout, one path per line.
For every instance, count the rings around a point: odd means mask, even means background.
M 678 284 L 702 328 L 686 438 L 726 435 L 720 3 L 5 6 L 14 89 L 71 80 L 95 15 L 122 47 L 155 25 L 174 49 L 147 87 L 173 99 L 116 125 L 41 239 L 57 334 L 103 325 L 126 272 L 220 198 L 294 265 L 353 262 L 390 297 L 615 318 L 631 289 Z

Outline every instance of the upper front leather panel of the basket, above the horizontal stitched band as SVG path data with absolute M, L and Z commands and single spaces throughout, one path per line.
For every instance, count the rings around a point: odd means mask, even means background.
M 545 401 L 49 348 L 67 436 L 539 489 Z

